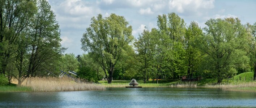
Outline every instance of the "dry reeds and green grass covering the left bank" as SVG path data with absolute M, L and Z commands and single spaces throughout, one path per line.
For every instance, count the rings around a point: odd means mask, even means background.
M 49 91 L 84 91 L 84 90 L 105 90 L 100 84 L 77 82 L 71 78 L 63 77 L 31 77 L 26 78 L 21 85 L 14 80 L 14 84 L 0 86 L 0 92 L 49 92 Z

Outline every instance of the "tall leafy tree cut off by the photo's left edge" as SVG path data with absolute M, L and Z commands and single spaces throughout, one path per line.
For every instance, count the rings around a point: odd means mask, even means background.
M 35 0 L 0 1 L 1 73 L 5 74 L 9 58 L 16 52 L 17 40 L 36 10 Z

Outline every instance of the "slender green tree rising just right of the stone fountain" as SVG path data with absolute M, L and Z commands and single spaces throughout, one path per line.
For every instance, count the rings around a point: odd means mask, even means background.
M 149 76 L 149 71 L 151 70 L 151 62 L 153 59 L 153 39 L 150 35 L 149 30 L 144 30 L 138 37 L 138 41 L 135 42 L 135 49 L 137 51 L 137 59 L 139 62 L 139 75 L 146 83 L 147 77 Z

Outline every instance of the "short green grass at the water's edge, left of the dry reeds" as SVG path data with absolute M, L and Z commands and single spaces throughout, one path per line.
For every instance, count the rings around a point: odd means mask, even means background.
M 17 86 L 16 84 L 10 84 L 6 86 L 0 86 L 0 92 L 31 92 L 31 87 Z

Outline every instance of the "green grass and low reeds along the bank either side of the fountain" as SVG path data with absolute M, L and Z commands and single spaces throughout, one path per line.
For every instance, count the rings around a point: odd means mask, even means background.
M 152 83 L 151 81 L 144 83 L 144 81 L 137 81 L 142 87 L 169 87 L 169 88 L 214 88 L 222 89 L 224 91 L 242 91 L 242 92 L 256 92 L 255 81 L 237 81 L 237 80 L 223 80 L 223 84 L 216 84 L 217 79 L 204 79 L 195 82 L 163 81 Z M 125 87 L 129 86 L 130 81 L 112 81 L 107 84 L 107 81 L 100 81 L 105 87 Z

